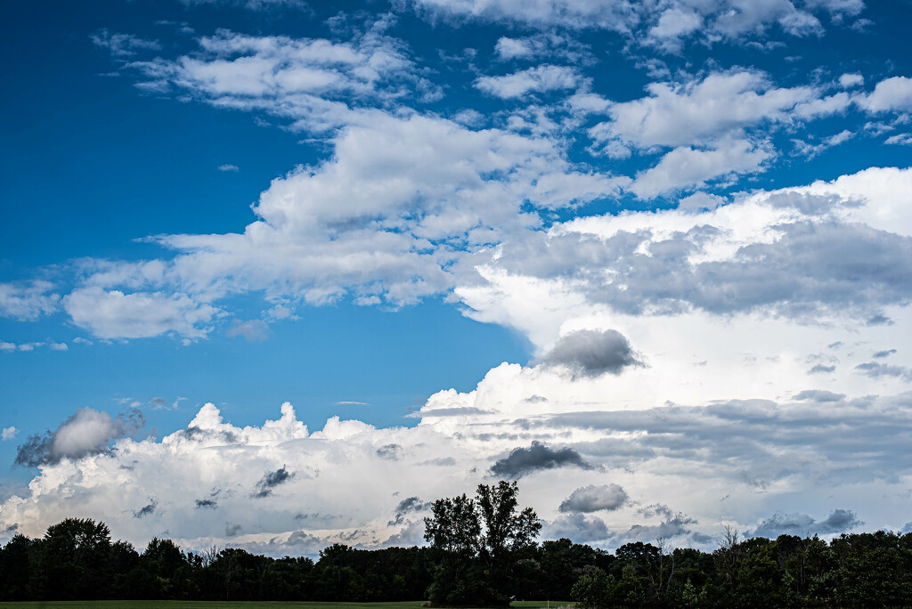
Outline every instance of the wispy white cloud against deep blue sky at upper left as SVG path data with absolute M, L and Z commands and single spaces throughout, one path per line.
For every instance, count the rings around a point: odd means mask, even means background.
M 369 120 L 370 108 L 398 105 L 405 89 L 419 98 L 439 95 L 414 76 L 403 44 L 384 34 L 389 24 L 380 18 L 347 42 L 219 30 L 199 38 L 195 54 L 127 67 L 140 75 L 142 89 L 265 112 L 318 133 Z

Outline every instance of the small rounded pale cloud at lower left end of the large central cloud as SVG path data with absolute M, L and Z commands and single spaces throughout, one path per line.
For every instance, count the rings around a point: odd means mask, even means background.
M 78 288 L 63 300 L 73 323 L 99 338 L 148 338 L 173 332 L 200 338 L 218 309 L 187 294 L 105 290 L 98 285 Z

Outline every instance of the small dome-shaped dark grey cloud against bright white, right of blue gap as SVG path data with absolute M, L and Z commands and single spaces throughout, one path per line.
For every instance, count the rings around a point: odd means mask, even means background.
M 642 366 L 627 337 L 617 330 L 579 330 L 562 336 L 541 360 L 548 366 L 567 366 L 575 375 L 598 377 Z

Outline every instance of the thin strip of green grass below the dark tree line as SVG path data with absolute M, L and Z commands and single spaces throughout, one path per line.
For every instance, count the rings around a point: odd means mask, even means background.
M 240 607 L 242 609 L 343 609 L 344 607 L 363 607 L 364 609 L 416 609 L 424 601 L 409 601 L 405 603 L 244 603 L 225 601 L 56 601 L 35 603 L 0 603 L 0 607 L 42 607 L 45 609 L 202 609 L 203 607 L 226 608 Z M 539 609 L 546 607 L 569 607 L 573 603 L 558 601 L 517 601 L 511 606 L 525 609 Z

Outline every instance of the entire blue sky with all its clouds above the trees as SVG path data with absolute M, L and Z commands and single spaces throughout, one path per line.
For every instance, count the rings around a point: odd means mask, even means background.
M 912 531 L 912 3 L 0 24 L 0 542 Z

